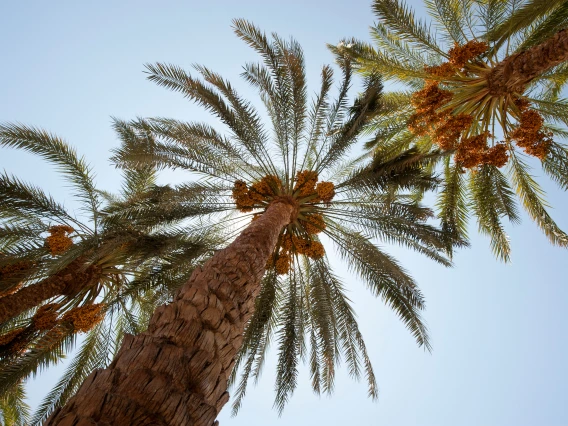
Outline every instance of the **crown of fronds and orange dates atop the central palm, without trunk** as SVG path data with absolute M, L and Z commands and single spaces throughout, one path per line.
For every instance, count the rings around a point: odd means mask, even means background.
M 339 94 L 331 98 L 333 70 L 324 66 L 321 86 L 308 99 L 304 56 L 295 40 L 269 39 L 254 25 L 234 21 L 234 31 L 262 58 L 244 66 L 243 78 L 260 95 L 270 127 L 253 104 L 219 74 L 195 66 L 197 78 L 175 66 L 147 65 L 148 78 L 179 92 L 217 116 L 221 134 L 201 123 L 165 118 L 127 123 L 136 134 L 116 151 L 114 162 L 136 169 L 148 165 L 194 172 L 199 179 L 170 194 L 174 202 L 148 205 L 153 214 L 183 216 L 207 208 L 203 226 L 216 226 L 231 241 L 274 200 L 293 200 L 296 219 L 284 227 L 267 263 L 255 311 L 233 369 L 236 412 L 249 378 L 260 375 L 266 351 L 278 346 L 278 409 L 296 386 L 300 359 L 309 360 L 316 392 L 330 392 L 341 357 L 350 373 L 366 375 L 369 394 L 375 378 L 344 285 L 326 257 L 334 246 L 350 269 L 382 298 L 430 348 L 420 316 L 424 298 L 414 280 L 374 240 L 402 244 L 449 265 L 445 254 L 455 242 L 429 223 L 433 213 L 416 202 L 413 190 L 432 189 L 437 179 L 425 171 L 441 154 L 406 150 L 360 167 L 351 149 L 370 120 L 382 111 L 382 83 L 365 78 L 364 91 L 348 100 L 353 64 L 339 58 Z M 128 141 L 127 141 L 128 142 Z M 184 200 L 175 205 L 178 195 Z M 191 201 L 191 197 L 194 197 Z M 132 212 L 145 214 L 145 210 Z M 325 245 L 324 245 L 325 244 Z

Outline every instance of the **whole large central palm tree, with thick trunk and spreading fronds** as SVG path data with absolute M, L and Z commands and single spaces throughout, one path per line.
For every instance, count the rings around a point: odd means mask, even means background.
M 151 81 L 204 106 L 230 132 L 224 136 L 206 124 L 164 118 L 135 120 L 128 128 L 152 138 L 126 141 L 114 158 L 130 169 L 172 167 L 200 176 L 191 183 L 193 202 L 156 202 L 149 211 L 163 216 L 196 205 L 225 206 L 228 214 L 203 215 L 203 221 L 232 242 L 154 312 L 147 331 L 127 336 L 111 365 L 93 372 L 47 424 L 210 426 L 229 399 L 228 383 L 241 371 L 234 404 L 239 408 L 273 339 L 279 409 L 296 386 L 304 356 L 316 391 L 331 392 L 343 357 L 354 376 L 364 372 L 376 397 L 363 338 L 326 257 L 331 245 L 395 310 L 418 344 L 430 348 L 420 290 L 372 240 L 403 244 L 449 265 L 444 254 L 454 241 L 428 223 L 432 211 L 411 194 L 437 184 L 424 169 L 439 154 L 410 150 L 358 167 L 348 151 L 380 111 L 380 79 L 367 77 L 364 93 L 350 107 L 352 62 L 343 58 L 338 97 L 330 99 L 333 71 L 324 66 L 319 94 L 309 103 L 296 41 L 276 35 L 269 40 L 243 20 L 234 21 L 234 30 L 263 59 L 246 65 L 243 77 L 258 89 L 271 130 L 250 102 L 206 67 L 196 67 L 203 81 L 177 66 L 148 65 Z

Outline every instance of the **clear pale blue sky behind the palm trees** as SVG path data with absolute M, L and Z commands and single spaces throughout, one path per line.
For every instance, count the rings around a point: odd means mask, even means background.
M 145 80 L 146 62 L 200 63 L 221 72 L 245 97 L 241 66 L 256 60 L 232 33 L 232 18 L 294 36 L 304 47 L 311 91 L 332 62 L 325 43 L 368 40 L 368 0 L 277 1 L 4 1 L 0 5 L 0 121 L 43 127 L 66 138 L 97 170 L 99 187 L 117 189 L 109 150 L 117 146 L 110 116 L 166 116 L 216 123 L 180 95 Z M 0 170 L 40 184 L 72 205 L 53 169 L 29 155 L 0 151 Z M 540 174 L 540 172 L 539 172 Z M 168 179 L 168 176 L 164 178 Z M 553 216 L 568 230 L 566 193 L 542 179 Z M 357 279 L 351 291 L 380 386 L 378 402 L 342 370 L 331 397 L 314 396 L 307 371 L 282 417 L 272 410 L 273 361 L 249 391 L 241 413 L 223 426 L 561 426 L 568 424 L 566 303 L 568 252 L 552 247 L 524 217 L 509 227 L 513 262 L 503 265 L 471 226 L 472 248 L 444 269 L 403 249 L 393 253 L 428 301 L 432 354 Z M 273 354 L 274 355 L 274 354 Z M 37 404 L 50 372 L 32 383 Z M 228 407 L 226 407 L 228 408 Z

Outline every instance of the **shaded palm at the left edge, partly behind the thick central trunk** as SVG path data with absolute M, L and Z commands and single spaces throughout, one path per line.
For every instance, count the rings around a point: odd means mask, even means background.
M 122 139 L 132 138 L 119 123 Z M 173 191 L 153 167 L 125 170 L 113 195 L 96 189 L 91 169 L 59 137 L 19 124 L 0 126 L 0 146 L 27 150 L 58 166 L 83 207 L 76 217 L 42 189 L 0 175 L 0 414 L 29 424 L 24 381 L 58 363 L 87 333 L 32 424 L 64 404 L 95 368 L 106 367 L 125 333 L 144 330 L 193 267 L 217 247 L 180 220 L 131 217 Z M 179 197 L 178 197 L 179 198 Z M 165 201 L 163 201 L 165 205 Z M 185 217 L 191 213 L 185 212 Z

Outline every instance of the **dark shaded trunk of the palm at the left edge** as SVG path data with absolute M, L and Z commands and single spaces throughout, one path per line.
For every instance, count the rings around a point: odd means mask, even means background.
M 57 274 L 0 298 L 0 324 L 52 297 L 72 295 L 98 278 L 96 267 L 83 270 L 80 259 L 74 260 Z

